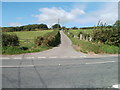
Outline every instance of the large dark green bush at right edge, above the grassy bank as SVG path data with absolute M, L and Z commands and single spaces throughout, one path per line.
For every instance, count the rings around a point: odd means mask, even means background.
M 117 26 L 108 28 L 106 25 L 100 24 L 93 30 L 92 37 L 93 41 L 104 44 L 120 46 L 120 30 Z

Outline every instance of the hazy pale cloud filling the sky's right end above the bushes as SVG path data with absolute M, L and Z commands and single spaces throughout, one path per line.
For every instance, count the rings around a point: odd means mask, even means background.
M 113 24 L 118 19 L 118 4 L 107 3 L 101 9 L 86 13 L 82 18 L 76 21 L 81 24 L 93 23 L 97 24 L 99 20 L 103 23 Z

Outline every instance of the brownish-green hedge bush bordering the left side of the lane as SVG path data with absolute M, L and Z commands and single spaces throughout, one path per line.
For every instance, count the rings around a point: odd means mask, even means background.
M 58 44 L 60 44 L 60 32 L 57 30 L 35 39 L 36 46 L 57 46 Z

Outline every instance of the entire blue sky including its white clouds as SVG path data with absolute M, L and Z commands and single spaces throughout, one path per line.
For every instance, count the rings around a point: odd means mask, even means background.
M 117 2 L 3 2 L 2 26 L 58 23 L 66 27 L 88 27 L 98 21 L 109 25 L 118 19 Z

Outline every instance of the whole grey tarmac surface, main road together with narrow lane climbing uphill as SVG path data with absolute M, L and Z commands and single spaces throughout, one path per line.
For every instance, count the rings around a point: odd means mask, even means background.
M 118 84 L 117 55 L 76 52 L 63 32 L 58 47 L 2 59 L 3 88 L 109 88 Z

